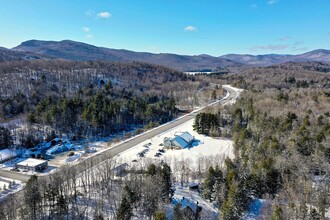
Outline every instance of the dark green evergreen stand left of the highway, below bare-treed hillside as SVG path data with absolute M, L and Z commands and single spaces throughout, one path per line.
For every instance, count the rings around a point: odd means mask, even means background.
M 79 90 L 71 98 L 48 96 L 27 115 L 27 121 L 81 139 L 164 123 L 177 113 L 173 98 L 114 90 L 109 81 L 101 88 Z

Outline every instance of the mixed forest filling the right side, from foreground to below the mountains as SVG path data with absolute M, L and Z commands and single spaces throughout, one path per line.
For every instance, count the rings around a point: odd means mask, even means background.
M 264 199 L 265 219 L 324 219 L 330 207 L 330 75 L 320 63 L 222 75 L 246 90 L 231 108 L 236 158 L 226 161 L 221 219 Z M 221 119 L 218 117 L 218 119 Z

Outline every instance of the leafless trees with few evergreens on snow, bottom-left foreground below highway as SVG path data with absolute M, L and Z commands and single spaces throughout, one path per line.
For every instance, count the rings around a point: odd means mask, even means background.
M 95 162 L 95 161 L 94 161 Z M 163 216 L 174 188 L 171 168 L 149 164 L 117 176 L 113 159 L 32 176 L 20 193 L 0 203 L 1 219 L 153 219 Z M 164 218 L 161 218 L 164 219 Z

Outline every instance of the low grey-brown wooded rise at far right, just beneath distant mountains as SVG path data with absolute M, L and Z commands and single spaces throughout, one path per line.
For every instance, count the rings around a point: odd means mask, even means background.
M 330 65 L 320 62 L 285 63 L 269 67 L 251 67 L 239 73 L 213 76 L 223 83 L 250 91 L 275 89 L 330 89 Z

